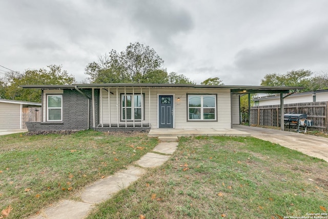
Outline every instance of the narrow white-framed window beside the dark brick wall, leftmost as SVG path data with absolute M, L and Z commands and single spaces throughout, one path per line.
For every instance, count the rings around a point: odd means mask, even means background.
M 63 121 L 63 95 L 47 95 L 47 121 Z

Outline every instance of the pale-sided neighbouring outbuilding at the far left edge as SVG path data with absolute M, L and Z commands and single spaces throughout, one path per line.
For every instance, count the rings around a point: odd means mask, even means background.
M 0 99 L 0 130 L 26 129 L 26 121 L 37 121 L 34 119 L 35 116 L 29 116 L 29 111 L 33 112 L 31 107 L 37 107 L 34 109 L 37 110 L 40 109 L 41 104 Z

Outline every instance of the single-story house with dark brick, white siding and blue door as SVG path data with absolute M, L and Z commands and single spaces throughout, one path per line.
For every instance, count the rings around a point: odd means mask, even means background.
M 42 122 L 29 131 L 216 128 L 240 124 L 239 96 L 300 87 L 179 84 L 24 85 L 42 89 Z

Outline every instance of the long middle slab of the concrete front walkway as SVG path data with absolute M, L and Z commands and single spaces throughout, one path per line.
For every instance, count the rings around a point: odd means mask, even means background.
M 108 200 L 113 194 L 138 180 L 145 172 L 144 169 L 130 166 L 127 170 L 119 171 L 114 175 L 87 186 L 83 193 L 81 193 L 81 198 L 84 202 L 92 204 Z

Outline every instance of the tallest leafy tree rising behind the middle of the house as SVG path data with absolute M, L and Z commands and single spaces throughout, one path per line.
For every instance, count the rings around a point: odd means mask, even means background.
M 85 73 L 91 83 L 163 83 L 168 77 L 154 49 L 130 43 L 125 51 L 111 50 L 89 63 Z

